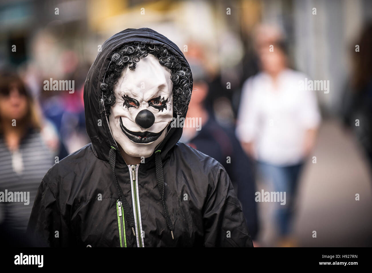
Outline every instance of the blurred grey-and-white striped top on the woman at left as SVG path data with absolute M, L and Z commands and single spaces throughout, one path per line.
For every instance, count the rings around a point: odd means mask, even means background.
M 20 232 L 26 231 L 36 192 L 53 164 L 54 156 L 39 132 L 30 130 L 16 152 L 9 151 L 0 135 L 0 205 L 4 205 L 1 207 L 7 226 Z M 29 204 L 14 202 L 16 200 L 4 202 L 1 194 L 4 197 L 6 191 L 8 196 L 9 192 L 29 192 Z

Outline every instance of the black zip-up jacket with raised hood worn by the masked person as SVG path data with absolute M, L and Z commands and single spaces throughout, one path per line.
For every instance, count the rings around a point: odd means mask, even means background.
M 174 239 L 158 190 L 154 154 L 136 166 L 138 183 L 134 183 L 131 166 L 116 152 L 115 174 L 134 212 L 137 236 L 127 215 L 120 215 L 109 163 L 111 147 L 118 146 L 105 116 L 99 114 L 99 86 L 113 51 L 125 43 L 142 41 L 167 48 L 189 66 L 173 42 L 148 28 L 126 29 L 102 45 L 84 85 L 86 129 L 92 142 L 49 169 L 33 205 L 28 233 L 40 245 L 54 247 L 253 246 L 225 169 L 179 142 L 182 128 L 171 128 L 155 149 L 161 150 L 164 196 Z

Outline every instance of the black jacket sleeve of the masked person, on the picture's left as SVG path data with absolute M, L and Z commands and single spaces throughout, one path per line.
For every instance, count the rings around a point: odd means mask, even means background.
M 68 246 L 68 226 L 52 189 L 41 182 L 33 203 L 27 234 L 40 247 Z

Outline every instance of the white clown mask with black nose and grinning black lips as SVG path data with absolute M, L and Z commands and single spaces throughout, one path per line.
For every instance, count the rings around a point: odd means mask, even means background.
M 173 118 L 170 76 L 170 69 L 150 54 L 134 70 L 123 69 L 109 121 L 113 138 L 127 155 L 149 157 L 166 136 Z

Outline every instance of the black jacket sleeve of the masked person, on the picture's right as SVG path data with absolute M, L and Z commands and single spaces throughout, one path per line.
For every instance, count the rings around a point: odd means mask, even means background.
M 253 247 L 243 211 L 220 164 L 203 212 L 206 247 Z

